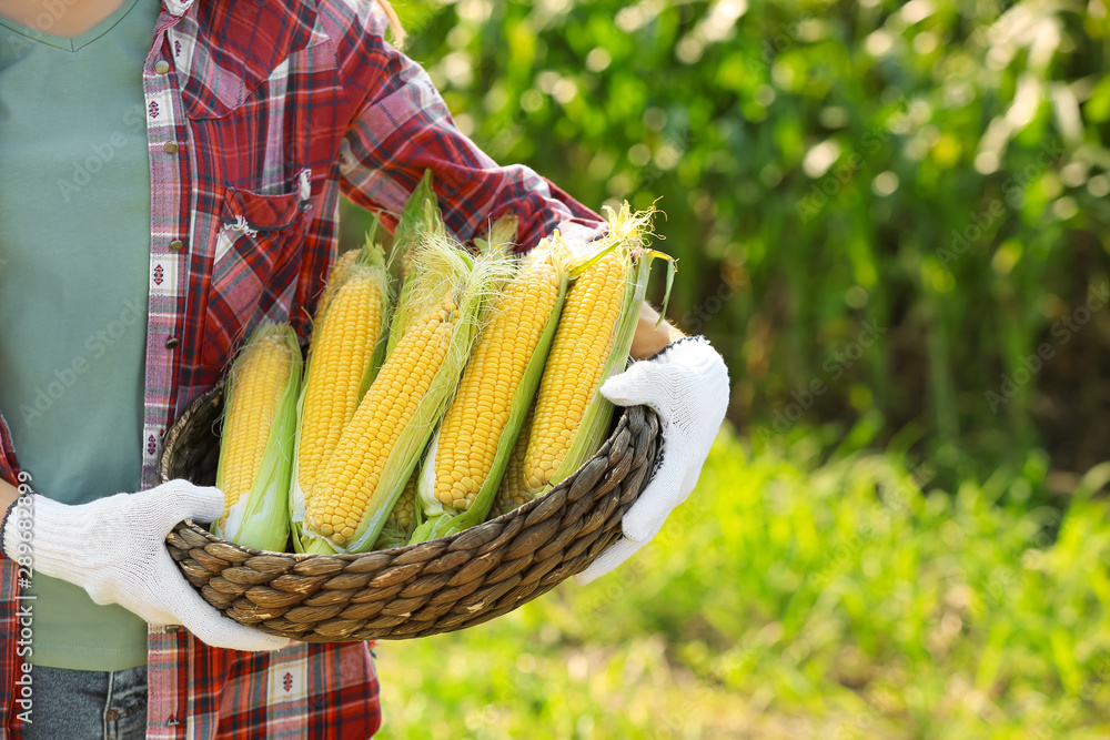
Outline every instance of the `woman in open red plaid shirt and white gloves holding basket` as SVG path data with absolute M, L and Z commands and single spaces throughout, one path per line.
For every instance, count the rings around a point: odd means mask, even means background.
M 12 734 L 377 730 L 366 645 L 287 645 L 219 615 L 163 539 L 214 518 L 223 494 L 151 486 L 161 435 L 251 326 L 290 320 L 305 335 L 341 192 L 392 226 L 431 169 L 460 240 L 506 211 L 524 246 L 555 227 L 603 233 L 596 213 L 454 128 L 424 71 L 385 42 L 391 19 L 370 0 L 0 0 L 0 728 Z M 679 336 L 655 317 L 645 306 L 637 356 Z M 665 463 L 626 539 L 582 581 L 693 488 L 728 385 L 719 355 L 684 339 L 605 392 L 660 412 Z M 12 484 L 41 493 L 13 506 Z

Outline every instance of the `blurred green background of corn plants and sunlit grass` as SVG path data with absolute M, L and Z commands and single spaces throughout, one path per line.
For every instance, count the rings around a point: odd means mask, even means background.
M 383 643 L 382 737 L 1107 737 L 1106 0 L 396 8 L 495 160 L 660 199 L 733 396 L 630 564 Z

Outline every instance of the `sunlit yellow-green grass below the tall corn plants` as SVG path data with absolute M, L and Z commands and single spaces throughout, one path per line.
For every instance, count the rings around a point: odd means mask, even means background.
M 1110 734 L 1110 464 L 1061 511 L 1036 454 L 936 490 L 895 452 L 773 442 L 723 434 L 616 572 L 380 643 L 379 737 Z

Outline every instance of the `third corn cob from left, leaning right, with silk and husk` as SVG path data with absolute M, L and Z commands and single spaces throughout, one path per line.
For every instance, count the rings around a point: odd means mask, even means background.
M 393 317 L 396 346 L 307 491 L 306 551 L 363 551 L 377 539 L 458 381 L 490 285 L 506 270 L 501 255 L 472 260 L 434 234 L 413 264 Z

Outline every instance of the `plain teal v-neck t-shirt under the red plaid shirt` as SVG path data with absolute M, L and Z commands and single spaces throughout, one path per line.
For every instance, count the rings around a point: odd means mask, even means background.
M 150 260 L 142 70 L 159 0 L 75 39 L 0 18 L 0 410 L 33 488 L 140 487 Z M 36 575 L 31 662 L 147 662 L 147 625 Z

